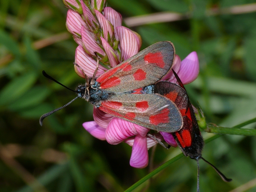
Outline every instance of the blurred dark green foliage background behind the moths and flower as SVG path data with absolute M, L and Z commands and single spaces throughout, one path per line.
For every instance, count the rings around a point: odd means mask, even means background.
M 190 99 L 201 104 L 207 122 L 232 127 L 256 117 L 256 12 L 205 13 L 254 2 L 109 0 L 108 6 L 123 18 L 189 12 L 189 19 L 133 30 L 142 36 L 143 49 L 157 41 L 172 41 L 181 59 L 197 51 L 201 71 L 196 81 L 186 85 Z M 42 114 L 75 97 L 41 71 L 70 88 L 84 82 L 73 70 L 77 45 L 67 33 L 66 13 L 61 0 L 0 1 L 0 192 L 122 192 L 149 172 L 129 166 L 127 144 L 109 145 L 84 131 L 81 124 L 92 120 L 93 108 L 81 99 L 47 117 L 40 127 Z M 48 43 L 49 38 L 54 41 Z M 255 137 L 222 136 L 207 143 L 203 156 L 233 182 L 224 183 L 201 161 L 201 191 L 227 192 L 255 180 L 255 151 Z M 166 150 L 159 145 L 151 166 L 179 153 L 179 148 Z M 195 192 L 196 172 L 196 162 L 183 157 L 134 191 Z

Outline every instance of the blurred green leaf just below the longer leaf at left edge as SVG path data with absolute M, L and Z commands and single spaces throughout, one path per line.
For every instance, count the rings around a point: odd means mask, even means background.
M 32 87 L 25 94 L 16 99 L 9 105 L 9 109 L 13 111 L 29 108 L 41 103 L 49 95 L 49 89 L 43 86 Z

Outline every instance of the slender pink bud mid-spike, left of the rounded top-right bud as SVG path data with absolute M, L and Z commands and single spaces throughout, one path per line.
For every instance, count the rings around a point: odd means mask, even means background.
M 95 15 L 96 15 L 97 19 L 99 20 L 99 25 L 102 28 L 104 38 L 105 38 L 105 40 L 108 41 L 108 33 L 110 35 L 110 38 L 112 38 L 112 36 L 114 34 L 113 25 L 109 22 L 109 20 L 104 15 L 102 15 L 97 10 L 95 10 Z

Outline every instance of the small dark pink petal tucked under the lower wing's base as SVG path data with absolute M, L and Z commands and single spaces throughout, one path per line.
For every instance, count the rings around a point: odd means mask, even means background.
M 114 116 L 101 111 L 99 108 L 93 109 L 93 119 L 101 127 L 107 128 L 108 123 L 114 118 Z

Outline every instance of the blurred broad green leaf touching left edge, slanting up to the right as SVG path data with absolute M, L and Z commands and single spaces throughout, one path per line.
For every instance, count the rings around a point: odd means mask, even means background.
M 36 74 L 26 73 L 9 82 L 0 92 L 0 105 L 7 105 L 23 95 L 36 81 Z

